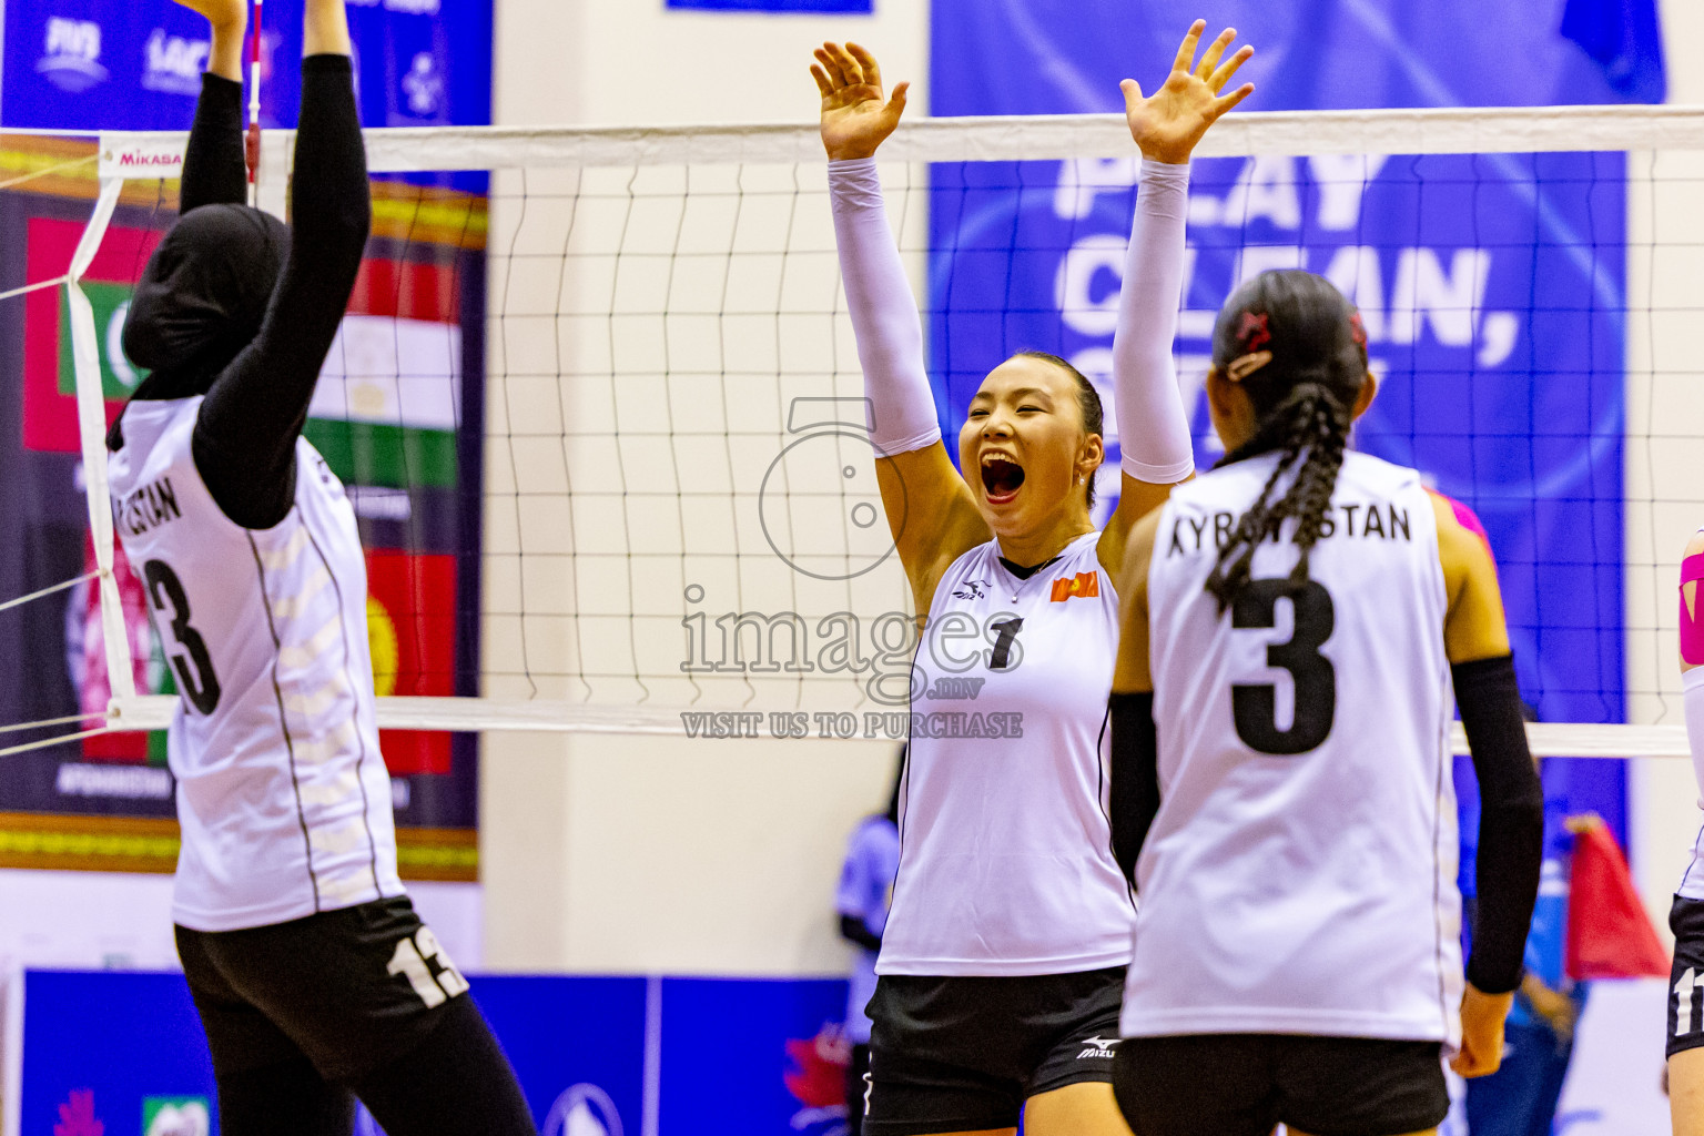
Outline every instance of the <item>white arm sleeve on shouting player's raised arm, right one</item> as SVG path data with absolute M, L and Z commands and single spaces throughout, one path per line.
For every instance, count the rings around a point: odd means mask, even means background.
M 1189 167 L 1143 158 L 1113 334 L 1113 414 L 1120 467 L 1152 485 L 1172 485 L 1195 472 L 1189 416 L 1172 361 L 1188 215 Z

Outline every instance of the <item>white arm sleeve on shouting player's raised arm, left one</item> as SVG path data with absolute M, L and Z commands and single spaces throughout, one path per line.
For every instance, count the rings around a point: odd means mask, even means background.
M 941 441 L 941 422 L 924 368 L 924 327 L 888 228 L 876 158 L 830 162 L 828 199 L 874 419 L 869 439 L 883 455 L 922 450 Z

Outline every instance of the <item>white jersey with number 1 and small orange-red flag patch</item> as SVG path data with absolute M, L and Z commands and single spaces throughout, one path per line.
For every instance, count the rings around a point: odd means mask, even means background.
M 900 872 L 878 974 L 1068 974 L 1130 959 L 1106 819 L 1118 596 L 1079 536 L 1028 581 L 999 545 L 935 588 L 912 668 Z

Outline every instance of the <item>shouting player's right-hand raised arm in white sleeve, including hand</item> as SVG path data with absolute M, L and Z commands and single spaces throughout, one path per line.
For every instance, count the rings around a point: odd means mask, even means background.
M 1118 511 L 1101 538 L 1101 562 L 1114 572 L 1123 564 L 1130 528 L 1195 472 L 1189 417 L 1172 363 L 1183 296 L 1189 155 L 1220 116 L 1254 92 L 1252 83 L 1242 83 L 1222 94 L 1254 55 L 1254 48 L 1244 44 L 1225 58 L 1235 29 L 1220 32 L 1196 63 L 1205 29 L 1203 20 L 1189 27 L 1171 73 L 1152 95 L 1145 97 L 1133 78 L 1121 85 L 1130 135 L 1142 150 L 1142 186 L 1113 334 L 1121 485 Z

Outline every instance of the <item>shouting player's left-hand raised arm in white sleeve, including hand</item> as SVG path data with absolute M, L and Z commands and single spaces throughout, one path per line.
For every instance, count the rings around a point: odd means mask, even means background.
M 941 441 L 917 300 L 876 174 L 876 150 L 900 124 L 907 83 L 886 95 L 876 56 L 859 44 L 818 48 L 811 77 L 823 97 L 835 245 L 874 417 L 871 443 L 884 455 L 876 462 L 876 480 L 922 615 L 941 574 L 988 540 L 988 526 Z

